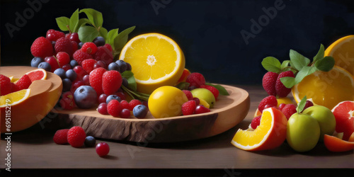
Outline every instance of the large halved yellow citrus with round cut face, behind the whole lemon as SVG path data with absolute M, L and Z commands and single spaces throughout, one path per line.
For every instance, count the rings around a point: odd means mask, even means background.
M 132 65 L 137 91 L 142 93 L 175 85 L 185 67 L 181 48 L 171 38 L 159 33 L 132 38 L 123 47 L 120 59 Z

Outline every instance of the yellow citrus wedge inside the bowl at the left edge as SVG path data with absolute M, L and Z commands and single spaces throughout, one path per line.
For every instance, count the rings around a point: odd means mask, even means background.
M 13 93 L 8 93 L 7 95 L 0 96 L 0 108 L 4 108 L 8 105 L 16 105 L 25 101 L 30 96 L 30 89 L 23 89 L 21 91 L 16 91 Z

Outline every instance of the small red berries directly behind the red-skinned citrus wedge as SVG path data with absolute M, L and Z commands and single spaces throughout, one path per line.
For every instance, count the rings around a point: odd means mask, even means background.
M 277 105 L 278 105 L 278 101 L 275 96 L 267 96 L 267 97 L 263 98 L 261 103 L 259 103 L 258 110 L 261 113 L 263 113 L 263 110 L 265 110 L 266 108 L 277 108 L 278 110 L 282 111 L 282 113 L 285 115 L 287 120 L 289 120 L 291 115 L 297 113 L 297 110 L 296 110 L 297 105 L 285 104 L 285 103 L 280 103 L 278 107 L 277 107 Z M 305 104 L 303 110 L 311 107 L 312 105 L 314 105 L 314 103 L 312 103 L 311 101 L 306 101 L 306 104 Z M 256 118 L 253 118 L 253 120 L 251 122 L 251 127 L 253 129 L 256 129 L 256 127 L 258 127 L 258 125 L 260 124 L 260 121 L 261 121 L 261 115 L 258 115 Z

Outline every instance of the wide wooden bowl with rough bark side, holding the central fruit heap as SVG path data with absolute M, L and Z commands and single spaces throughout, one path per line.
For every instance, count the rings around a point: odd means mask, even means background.
M 156 119 L 148 113 L 147 118 L 113 118 L 91 110 L 60 110 L 57 125 L 81 126 L 87 135 L 104 139 L 132 142 L 181 142 L 211 137 L 225 132 L 246 117 L 249 93 L 243 89 L 223 85 L 229 96 L 219 96 L 210 113 L 184 115 Z

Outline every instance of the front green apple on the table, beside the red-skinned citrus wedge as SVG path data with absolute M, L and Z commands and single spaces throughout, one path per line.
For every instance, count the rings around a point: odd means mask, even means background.
M 319 135 L 319 122 L 311 115 L 295 113 L 287 120 L 287 143 L 297 152 L 313 149 Z

